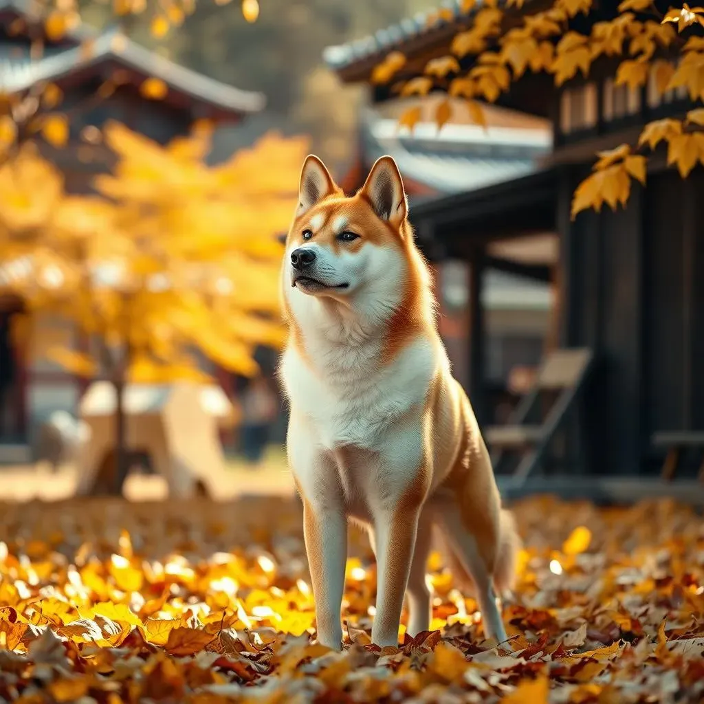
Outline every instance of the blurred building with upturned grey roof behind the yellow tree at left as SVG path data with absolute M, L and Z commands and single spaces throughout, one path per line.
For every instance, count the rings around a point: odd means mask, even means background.
M 147 80 L 152 86 L 156 81 L 158 95 L 145 90 Z M 115 31 L 98 34 L 79 27 L 51 38 L 31 2 L 0 0 L 0 94 L 26 96 L 49 82 L 63 93 L 56 109 L 70 116 L 70 134 L 67 146 L 42 144 L 42 151 L 61 169 L 67 191 L 74 194 L 89 193 L 94 176 L 111 166 L 113 156 L 96 139 L 106 120 L 118 120 L 165 144 L 187 134 L 195 120 L 232 125 L 258 113 L 265 102 L 262 94 L 199 75 Z M 106 83 L 111 90 L 105 90 Z M 51 410 L 75 413 L 84 389 L 82 380 L 61 367 L 41 358 L 27 361 L 13 349 L 10 320 L 19 302 L 2 296 L 2 289 L 22 266 L 16 260 L 0 262 L 0 462 L 11 463 L 27 460 L 27 440 Z M 88 344 L 58 321 L 39 324 L 40 339 L 82 348 Z M 227 391 L 230 375 L 220 376 Z

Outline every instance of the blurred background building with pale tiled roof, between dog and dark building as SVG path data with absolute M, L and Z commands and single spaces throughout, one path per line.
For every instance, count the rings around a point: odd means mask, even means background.
M 417 103 L 417 99 L 392 101 L 381 111 L 362 111 L 356 155 L 338 180 L 345 192 L 359 189 L 377 158 L 391 154 L 415 210 L 425 201 L 531 173 L 551 149 L 548 120 L 491 107 L 486 110 L 487 125 L 481 127 L 463 122 L 465 106 L 458 104 L 455 120 L 439 131 L 432 121 L 432 99 Z M 422 117 L 412 132 L 399 130 L 398 115 L 410 106 L 420 107 Z M 492 261 L 501 263 L 507 246 L 513 256 L 520 256 L 515 243 L 503 242 L 489 246 Z M 519 247 L 526 250 L 525 243 Z M 554 263 L 556 255 L 557 239 L 551 232 L 532 238 L 522 252 L 523 258 L 545 266 Z M 461 258 L 434 261 L 440 334 L 455 376 L 463 383 L 468 374 L 467 274 Z M 541 360 L 553 296 L 547 278 L 539 281 L 500 266 L 488 268 L 484 284 L 486 410 L 487 418 L 498 421 L 517 402 L 510 384 L 516 367 L 534 368 Z

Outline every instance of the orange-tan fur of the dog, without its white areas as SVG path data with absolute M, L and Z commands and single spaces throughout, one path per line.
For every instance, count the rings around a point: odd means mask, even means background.
M 325 173 L 327 174 L 327 170 Z M 372 636 L 376 636 L 382 644 L 395 641 L 398 614 L 401 612 L 403 594 L 407 587 L 410 601 L 417 603 L 418 615 L 415 623 L 425 625 L 427 622 L 427 614 L 424 611 L 429 605 L 429 595 L 424 579 L 425 558 L 430 547 L 429 532 L 433 525 L 446 532 L 444 543 L 448 563 L 460 584 L 478 589 L 482 611 L 489 612 L 487 617 L 491 621 L 491 630 L 494 631 L 491 634 L 498 635 L 503 631 L 503 627 L 500 621 L 497 622 L 495 607 L 491 615 L 492 583 L 501 592 L 510 589 L 520 542 L 513 517 L 501 509 L 501 499 L 489 453 L 479 432 L 470 401 L 460 384 L 451 376 L 449 365 L 446 363 L 444 348 L 436 328 L 436 304 L 432 296 L 431 275 L 427 263 L 415 245 L 413 232 L 406 218 L 405 198 L 388 219 L 379 217 L 373 204 L 374 194 L 370 191 L 372 174 L 365 187 L 351 197 L 341 194 L 327 175 L 325 192 L 313 206 L 296 215 L 287 239 L 287 251 L 291 251 L 294 246 L 303 246 L 306 243 L 303 231 L 313 221 L 318 227 L 313 238 L 308 241 L 315 241 L 318 246 L 333 253 L 338 253 L 341 249 L 356 253 L 367 241 L 376 247 L 397 251 L 406 261 L 406 275 L 401 285 L 401 303 L 389 313 L 388 320 L 379 332 L 377 341 L 380 342 L 380 352 L 369 369 L 370 377 L 382 373 L 385 367 L 396 363 L 409 346 L 416 344 L 418 340 L 427 341 L 437 360 L 436 371 L 429 379 L 425 403 L 422 404 L 422 413 L 417 421 L 417 432 L 422 438 L 420 460 L 417 466 L 407 468 L 406 489 L 397 495 L 391 495 L 394 497 L 393 508 L 384 514 L 384 520 L 388 523 L 384 524 L 383 532 L 393 536 L 393 539 L 386 543 L 382 541 L 384 553 L 377 555 L 381 560 L 380 564 L 384 565 L 384 572 L 379 573 L 377 621 Z M 400 176 L 398 182 L 400 183 Z M 402 189 L 401 184 L 401 191 Z M 360 234 L 360 238 L 350 243 L 338 241 L 335 223 L 340 222 L 345 222 L 346 229 Z M 284 261 L 284 287 L 287 285 L 287 266 L 289 265 Z M 322 301 L 323 306 L 330 306 L 331 311 L 336 310 L 334 297 L 329 301 L 323 298 Z M 322 353 L 307 339 L 303 321 L 296 319 L 285 295 L 284 313 L 290 329 L 289 353 L 294 354 L 296 359 L 302 360 L 311 369 L 320 370 L 320 365 L 325 365 L 325 355 L 320 356 Z M 408 422 L 415 422 L 416 415 L 417 411 L 413 409 L 402 414 L 395 420 L 397 427 L 401 429 L 406 427 Z M 310 419 L 298 410 L 295 395 L 291 396 L 289 439 L 291 433 L 297 436 L 301 432 L 314 432 L 310 422 Z M 316 517 L 315 512 L 321 515 L 337 515 L 336 512 L 342 511 L 348 518 L 367 525 L 373 548 L 379 548 L 375 544 L 378 541 L 379 525 L 377 524 L 372 532 L 372 524 L 375 524 L 377 518 L 367 515 L 365 509 L 356 508 L 356 503 L 350 498 L 344 498 L 354 496 L 356 491 L 353 490 L 351 495 L 345 494 L 345 479 L 341 479 L 342 485 L 339 487 L 341 498 L 338 499 L 335 494 L 337 489 L 329 491 L 332 484 L 328 486 L 328 482 L 336 481 L 332 479 L 337 476 L 336 467 L 339 476 L 346 477 L 346 470 L 353 467 L 355 462 L 361 467 L 365 466 L 363 450 L 341 446 L 332 451 L 332 457 L 333 459 L 323 462 L 323 465 L 330 462 L 329 469 L 326 469 L 327 465 L 320 469 L 324 470 L 320 476 L 324 477 L 322 482 L 326 486 L 321 488 L 320 480 L 317 484 L 308 483 L 308 489 L 303 482 L 296 484 L 306 507 L 306 546 L 316 603 L 319 606 L 318 629 L 323 634 L 322 640 L 327 640 L 327 644 L 334 646 L 339 631 L 331 620 L 334 622 L 337 619 L 339 622 L 339 612 L 337 615 L 331 615 L 331 610 L 335 608 L 334 603 L 327 602 L 331 599 L 334 602 L 337 595 L 331 595 L 331 588 L 323 574 L 327 559 L 322 547 L 325 529 L 320 522 L 322 519 Z M 301 467 L 298 467 L 298 471 L 301 471 Z M 315 492 L 315 497 L 310 496 L 311 491 Z M 383 477 L 375 484 L 374 491 L 384 494 Z M 371 496 L 366 501 L 374 503 L 376 498 L 378 497 Z M 383 503 L 383 496 L 380 500 Z M 317 508 L 314 508 L 314 505 Z M 417 530 L 420 536 L 416 536 Z M 406 574 L 410 574 L 408 584 Z M 384 602 L 381 605 L 379 598 Z M 326 605 L 324 613 L 321 613 L 320 605 L 323 602 Z

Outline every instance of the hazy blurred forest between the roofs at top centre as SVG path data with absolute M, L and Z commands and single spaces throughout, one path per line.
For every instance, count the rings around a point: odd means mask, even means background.
M 132 39 L 158 54 L 238 88 L 263 92 L 265 114 L 253 118 L 262 129 L 306 132 L 332 168 L 344 168 L 356 144 L 363 89 L 343 87 L 323 64 L 323 49 L 430 6 L 429 0 L 260 0 L 258 20 L 248 24 L 239 2 L 203 1 L 180 27 L 161 37 L 150 31 L 149 7 L 120 19 Z M 112 6 L 95 0 L 84 2 L 82 16 L 99 28 L 115 23 Z

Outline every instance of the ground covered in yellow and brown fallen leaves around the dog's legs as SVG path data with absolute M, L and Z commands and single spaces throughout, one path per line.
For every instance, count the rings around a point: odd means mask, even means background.
M 617 704 L 704 698 L 704 524 L 671 503 L 515 507 L 526 549 L 484 639 L 434 555 L 439 629 L 382 652 L 369 639 L 375 567 L 353 536 L 346 648 L 311 644 L 297 503 L 5 505 L 0 697 Z M 403 629 L 402 629 L 403 631 Z

